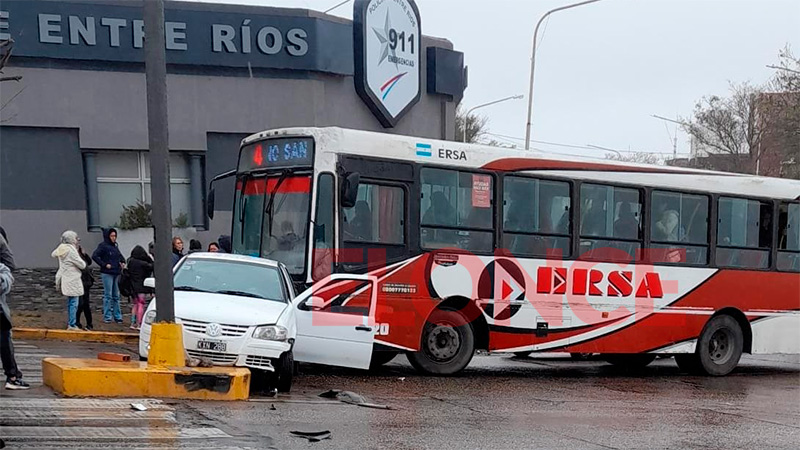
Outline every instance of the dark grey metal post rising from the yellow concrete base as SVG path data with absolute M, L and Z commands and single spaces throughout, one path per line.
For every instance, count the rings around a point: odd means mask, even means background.
M 147 133 L 155 228 L 156 321 L 175 321 L 172 292 L 172 207 L 169 192 L 167 55 L 164 1 L 144 2 L 144 61 L 147 78 Z

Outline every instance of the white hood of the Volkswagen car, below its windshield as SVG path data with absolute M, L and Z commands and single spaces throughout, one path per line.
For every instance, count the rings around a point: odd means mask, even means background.
M 227 325 L 266 325 L 278 321 L 288 304 L 252 297 L 175 291 L 175 317 Z

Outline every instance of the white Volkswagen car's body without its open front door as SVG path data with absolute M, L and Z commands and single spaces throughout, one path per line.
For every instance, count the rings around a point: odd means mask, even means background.
M 291 307 L 294 290 L 283 265 L 249 256 L 194 253 L 179 263 L 173 280 L 175 321 L 183 325 L 189 356 L 272 372 L 276 387 L 289 390 L 297 325 Z M 139 331 L 143 359 L 150 349 L 155 307 L 153 300 Z

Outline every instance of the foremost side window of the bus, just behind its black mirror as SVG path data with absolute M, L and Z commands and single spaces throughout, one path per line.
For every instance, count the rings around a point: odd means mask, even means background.
M 405 243 L 405 192 L 402 188 L 360 183 L 355 206 L 344 208 L 342 213 L 346 241 Z

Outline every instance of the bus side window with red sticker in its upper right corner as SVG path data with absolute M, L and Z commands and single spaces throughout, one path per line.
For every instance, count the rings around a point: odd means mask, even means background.
M 421 178 L 422 246 L 492 252 L 494 247 L 492 176 L 424 168 Z

